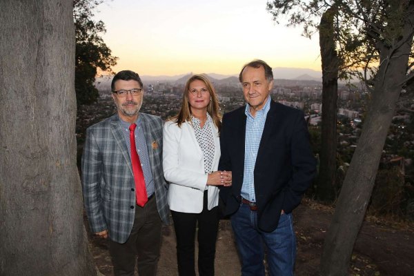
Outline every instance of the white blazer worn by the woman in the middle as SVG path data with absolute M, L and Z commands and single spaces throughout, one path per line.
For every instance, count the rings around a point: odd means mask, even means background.
M 220 140 L 217 127 L 213 124 L 215 154 L 212 170 L 217 170 L 220 159 Z M 204 173 L 203 152 L 198 144 L 193 126 L 184 122 L 167 121 L 163 132 L 163 168 L 168 188 L 170 210 L 182 213 L 201 213 L 207 176 Z M 208 210 L 219 204 L 219 189 L 208 187 Z

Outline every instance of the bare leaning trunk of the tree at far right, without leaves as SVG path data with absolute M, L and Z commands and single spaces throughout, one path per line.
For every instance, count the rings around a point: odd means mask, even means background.
M 400 15 L 400 20 L 405 20 L 402 35 L 406 43 L 392 51 L 381 41 L 377 42 L 380 48 L 380 68 L 375 77 L 373 99 L 325 239 L 322 275 L 348 275 L 355 239 L 364 220 L 382 148 L 406 77 L 408 56 L 413 43 L 413 10 L 414 2 L 411 1 L 407 12 L 408 20 L 406 15 Z

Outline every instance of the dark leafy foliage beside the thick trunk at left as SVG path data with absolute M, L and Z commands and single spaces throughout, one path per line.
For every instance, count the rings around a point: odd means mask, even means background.
M 106 32 L 102 21 L 93 21 L 93 10 L 103 0 L 74 0 L 76 57 L 75 90 L 77 104 L 90 104 L 96 101 L 98 90 L 94 86 L 97 70 L 112 72 L 117 64 L 110 48 L 103 42 L 101 33 Z

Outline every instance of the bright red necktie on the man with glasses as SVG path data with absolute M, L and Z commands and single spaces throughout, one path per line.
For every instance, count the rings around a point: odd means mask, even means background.
M 148 201 L 148 195 L 146 194 L 144 172 L 141 168 L 141 161 L 137 153 L 137 147 L 135 146 L 135 134 L 134 130 L 137 124 L 130 125 L 130 143 L 131 143 L 131 160 L 132 160 L 132 172 L 134 172 L 135 180 L 135 194 L 137 195 L 137 205 L 143 207 Z

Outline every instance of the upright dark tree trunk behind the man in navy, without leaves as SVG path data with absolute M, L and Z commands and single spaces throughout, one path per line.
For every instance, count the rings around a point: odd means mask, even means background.
M 322 148 L 316 193 L 318 199 L 332 202 L 336 197 L 337 97 L 339 60 L 335 50 L 333 20 L 336 8 L 322 14 L 319 46 L 322 59 Z

